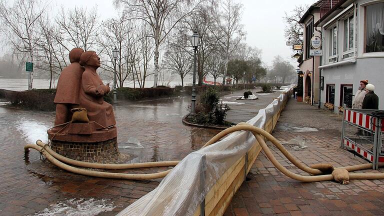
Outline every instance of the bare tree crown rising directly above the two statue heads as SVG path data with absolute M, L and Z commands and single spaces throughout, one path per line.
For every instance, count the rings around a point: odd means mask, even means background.
M 56 23 L 60 29 L 61 38 L 58 41 L 69 42 L 70 47 L 62 43 L 68 51 L 72 47 L 80 47 L 85 51 L 95 47 L 97 38 L 98 14 L 97 7 L 90 10 L 83 7 L 75 7 L 67 13 L 62 7 L 56 17 Z

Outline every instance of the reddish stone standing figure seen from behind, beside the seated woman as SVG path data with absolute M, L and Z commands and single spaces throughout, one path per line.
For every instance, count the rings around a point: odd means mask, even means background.
M 71 120 L 70 109 L 78 107 L 81 89 L 81 76 L 84 68 L 79 64 L 82 48 L 73 48 L 69 52 L 70 64 L 61 71 L 57 82 L 56 95 L 53 102 L 56 104 L 56 118 L 54 125 Z

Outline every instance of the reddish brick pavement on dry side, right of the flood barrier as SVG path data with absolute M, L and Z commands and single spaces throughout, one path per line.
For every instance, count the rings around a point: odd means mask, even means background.
M 288 150 L 307 165 L 366 163 L 339 148 L 340 127 L 341 115 L 291 99 L 272 134 L 282 143 L 297 136 L 304 138 L 307 148 Z M 307 175 L 295 168 L 277 148 L 272 147 L 272 151 L 282 165 Z M 262 152 L 248 177 L 250 180 L 242 183 L 224 215 L 384 215 L 384 180 L 350 180 L 346 185 L 333 181 L 303 183 L 279 172 Z

